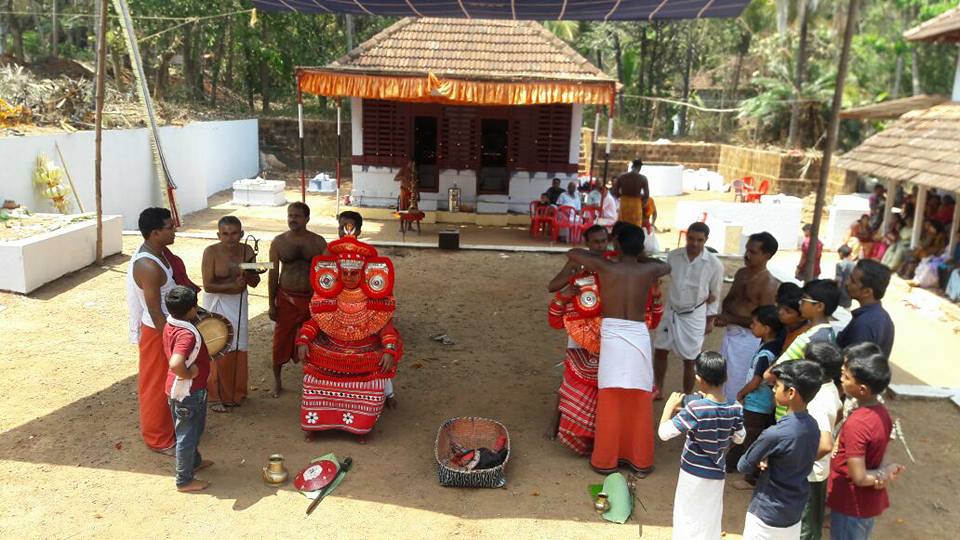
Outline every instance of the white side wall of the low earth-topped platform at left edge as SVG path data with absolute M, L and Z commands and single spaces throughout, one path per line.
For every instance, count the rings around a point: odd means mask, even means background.
M 120 253 L 123 217 L 103 216 L 103 255 Z M 0 242 L 0 290 L 27 294 L 97 258 L 97 221 L 73 223 L 23 240 Z

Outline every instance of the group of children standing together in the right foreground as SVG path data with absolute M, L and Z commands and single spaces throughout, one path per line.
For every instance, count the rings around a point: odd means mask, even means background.
M 761 345 L 738 394 L 724 395 L 725 359 L 704 352 L 699 395 L 670 396 L 659 436 L 686 437 L 674 538 L 720 538 L 725 473 L 733 471 L 744 474 L 734 487 L 753 489 L 744 538 L 819 539 L 826 508 L 830 538 L 869 538 L 889 506 L 886 485 L 904 468 L 884 459 L 893 430 L 879 399 L 888 359 L 873 343 L 836 346 L 829 318 L 839 301 L 832 280 L 781 285 L 777 306 L 753 312 Z M 838 424 L 841 392 L 851 412 Z

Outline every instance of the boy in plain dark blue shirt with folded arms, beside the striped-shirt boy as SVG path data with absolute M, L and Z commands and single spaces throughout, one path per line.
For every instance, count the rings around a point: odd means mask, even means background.
M 820 446 L 820 428 L 807 413 L 807 403 L 823 379 L 820 365 L 795 360 L 773 369 L 774 399 L 787 407 L 787 414 L 761 433 L 737 464 L 743 474 L 761 471 L 747 508 L 746 540 L 800 537 L 800 517 L 810 491 L 807 476 Z

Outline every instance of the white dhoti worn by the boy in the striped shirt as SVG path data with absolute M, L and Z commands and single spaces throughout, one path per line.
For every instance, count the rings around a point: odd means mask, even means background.
M 680 469 L 673 496 L 675 540 L 719 540 L 723 534 L 723 480 L 700 478 Z

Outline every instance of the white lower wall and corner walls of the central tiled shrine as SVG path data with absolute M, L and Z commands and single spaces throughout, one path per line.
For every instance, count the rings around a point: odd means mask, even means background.
M 363 151 L 363 103 L 353 98 L 350 101 L 351 140 L 354 151 Z M 570 118 L 570 163 L 580 159 L 580 124 L 583 122 L 583 105 L 574 105 Z M 353 165 L 353 204 L 358 206 L 389 207 L 396 206 L 400 195 L 400 183 L 395 182 L 399 169 L 395 167 L 372 167 Z M 460 188 L 460 200 L 467 206 L 476 208 L 481 214 L 505 214 L 508 211 L 526 214 L 530 201 L 540 198 L 540 194 L 550 187 L 556 177 L 566 188 L 567 182 L 576 180 L 576 173 L 554 172 L 515 172 L 510 176 L 507 195 L 477 195 L 477 174 L 473 170 L 440 170 L 440 187 L 436 193 L 420 193 L 420 209 L 426 211 L 447 210 L 447 190 L 454 184 Z

